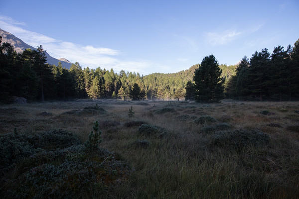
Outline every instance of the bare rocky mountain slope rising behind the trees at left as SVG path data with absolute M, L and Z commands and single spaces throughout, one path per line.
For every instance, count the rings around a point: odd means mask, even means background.
M 30 48 L 32 50 L 36 50 L 36 48 L 26 44 L 23 42 L 21 39 L 17 38 L 13 34 L 10 34 L 9 32 L 0 29 L 0 35 L 2 36 L 2 42 L 7 42 L 10 43 L 15 51 L 17 53 L 23 52 L 25 49 Z M 69 62 L 67 59 L 61 58 L 61 59 L 55 59 L 54 57 L 51 57 L 47 52 L 47 63 L 49 64 L 55 64 L 56 66 L 58 65 L 58 62 L 61 62 L 62 66 L 69 69 L 71 67 L 71 62 Z

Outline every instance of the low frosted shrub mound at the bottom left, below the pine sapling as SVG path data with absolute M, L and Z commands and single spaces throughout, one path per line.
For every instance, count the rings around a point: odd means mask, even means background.
M 6 180 L 3 198 L 89 198 L 91 190 L 105 192 L 130 173 L 113 153 L 86 151 L 83 145 L 42 151 L 26 162 L 33 164 L 22 168 L 17 179 Z

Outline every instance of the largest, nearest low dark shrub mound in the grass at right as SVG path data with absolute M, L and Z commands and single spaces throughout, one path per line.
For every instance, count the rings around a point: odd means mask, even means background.
M 268 134 L 259 130 L 219 131 L 210 137 L 211 145 L 242 149 L 247 146 L 264 146 L 270 142 Z

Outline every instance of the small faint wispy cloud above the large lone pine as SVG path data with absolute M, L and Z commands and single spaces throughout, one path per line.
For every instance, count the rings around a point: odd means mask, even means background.
M 240 34 L 241 32 L 236 30 L 226 30 L 224 32 L 208 32 L 207 40 L 213 46 L 223 45 L 233 41 Z

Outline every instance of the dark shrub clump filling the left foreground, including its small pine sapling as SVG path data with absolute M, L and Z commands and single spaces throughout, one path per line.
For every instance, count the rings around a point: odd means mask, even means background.
M 130 168 L 98 148 L 96 123 L 87 147 L 64 130 L 0 135 L 1 198 L 91 198 L 125 181 Z

